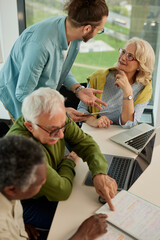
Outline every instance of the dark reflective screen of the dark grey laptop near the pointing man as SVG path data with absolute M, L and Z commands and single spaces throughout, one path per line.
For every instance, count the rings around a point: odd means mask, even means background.
M 154 148 L 156 134 L 149 140 L 146 146 L 142 149 L 142 151 L 136 157 L 136 160 L 140 163 L 140 160 L 143 162 L 145 161 L 146 167 L 151 163 L 152 160 L 152 153 Z

